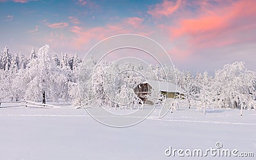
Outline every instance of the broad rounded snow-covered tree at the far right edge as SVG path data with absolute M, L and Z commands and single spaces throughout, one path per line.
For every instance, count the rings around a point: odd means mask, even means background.
M 255 72 L 244 67 L 244 62 L 227 64 L 215 73 L 216 89 L 220 106 L 238 108 L 253 99 Z

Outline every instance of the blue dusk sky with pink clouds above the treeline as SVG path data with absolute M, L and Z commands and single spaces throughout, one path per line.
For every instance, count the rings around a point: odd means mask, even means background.
M 255 0 L 0 0 L 0 49 L 28 55 L 46 43 L 84 57 L 104 38 L 133 33 L 160 43 L 180 70 L 244 61 L 256 71 L 255 8 Z

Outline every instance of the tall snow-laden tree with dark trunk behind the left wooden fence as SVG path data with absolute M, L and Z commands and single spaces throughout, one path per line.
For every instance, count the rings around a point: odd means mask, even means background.
M 31 59 L 28 68 L 20 72 L 23 76 L 23 82 L 28 82 L 25 99 L 46 102 L 46 98 L 52 100 L 57 99 L 56 89 L 59 86 L 58 80 L 60 75 L 56 70 L 56 65 L 52 62 L 50 57 L 49 45 L 44 45 L 38 50 L 38 58 Z M 61 84 L 62 85 L 62 84 Z

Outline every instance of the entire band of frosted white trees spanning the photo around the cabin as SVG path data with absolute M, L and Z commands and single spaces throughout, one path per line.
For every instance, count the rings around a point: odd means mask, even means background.
M 11 54 L 8 47 L 0 54 L 0 101 L 45 103 L 64 99 L 80 106 L 96 99 L 94 103 L 99 106 L 124 107 L 130 101 L 136 106 L 143 101 L 133 89 L 147 80 L 176 83 L 183 92 L 175 98 L 204 112 L 207 107 L 255 108 L 256 73 L 244 62 L 226 64 L 213 76 L 207 71 L 193 76 L 168 65 L 150 64 L 146 68 L 135 62 L 97 62 L 92 56 L 82 62 L 77 54 L 61 53 L 58 57 L 49 45 L 37 52 L 32 48 L 28 58 L 22 52 Z M 148 95 L 154 102 L 163 98 L 155 89 Z M 131 104 L 125 107 L 131 108 Z

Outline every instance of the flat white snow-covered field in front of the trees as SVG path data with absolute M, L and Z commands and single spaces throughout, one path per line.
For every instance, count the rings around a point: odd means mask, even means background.
M 1 105 L 3 106 L 3 105 Z M 256 111 L 180 108 L 158 119 L 159 108 L 140 124 L 114 128 L 84 109 L 0 108 L 0 159 L 234 159 L 167 157 L 166 149 L 237 149 L 256 156 Z M 239 152 L 237 154 L 239 154 Z

